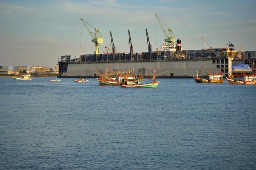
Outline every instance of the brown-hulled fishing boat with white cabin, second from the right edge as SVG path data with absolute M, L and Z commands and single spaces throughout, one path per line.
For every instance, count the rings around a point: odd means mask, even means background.
M 201 73 L 202 68 L 200 69 L 200 73 Z M 223 83 L 223 82 L 225 82 L 221 71 L 220 71 L 220 73 L 210 73 L 210 71 L 208 70 L 207 79 L 203 79 L 202 77 L 200 77 L 199 76 L 200 73 L 198 74 L 198 71 L 197 71 L 197 75 L 194 76 L 195 83 Z

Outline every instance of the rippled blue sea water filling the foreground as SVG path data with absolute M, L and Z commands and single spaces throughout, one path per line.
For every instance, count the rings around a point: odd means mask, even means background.
M 0 169 L 256 169 L 255 85 L 50 79 L 0 77 Z

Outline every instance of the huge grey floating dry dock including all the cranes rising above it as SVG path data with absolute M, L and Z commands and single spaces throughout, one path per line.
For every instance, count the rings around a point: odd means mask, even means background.
M 111 65 L 113 71 L 124 71 L 133 69 L 136 74 L 153 75 L 154 71 L 166 72 L 162 77 L 193 77 L 198 69 L 202 66 L 211 73 L 222 72 L 223 76 L 229 77 L 232 72 L 232 64 L 251 64 L 255 63 L 256 52 L 237 52 L 234 44 L 227 44 L 224 48 L 207 48 L 202 50 L 185 51 L 181 47 L 181 40 L 177 39 L 175 44 L 175 35 L 163 20 L 155 13 L 157 20 L 166 36 L 164 44 L 152 51 L 152 45 L 149 41 L 148 31 L 146 29 L 146 38 L 148 45 L 148 52 L 133 53 L 133 46 L 129 35 L 130 53 L 116 53 L 112 33 L 110 31 L 112 50 L 106 46 L 106 53 L 99 54 L 99 45 L 103 44 L 103 38 L 99 29 L 95 29 L 94 34 L 90 31 L 88 22 L 80 18 L 86 29 L 92 36 L 92 42 L 95 45 L 94 54 L 80 55 L 78 59 L 71 59 L 70 55 L 61 56 L 59 64 L 58 77 L 97 77 L 95 72 L 101 73 L 104 69 Z M 167 29 L 164 27 L 167 26 Z M 91 26 L 91 25 L 90 25 Z M 111 51 L 109 53 L 108 49 Z M 81 50 L 80 50 L 81 51 Z M 252 56 L 254 54 L 254 57 Z M 241 60 L 243 59 L 243 60 Z M 246 59 L 246 60 L 244 60 Z

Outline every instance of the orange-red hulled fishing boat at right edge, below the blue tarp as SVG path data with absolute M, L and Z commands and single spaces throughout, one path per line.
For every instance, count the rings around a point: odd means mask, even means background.
M 227 77 L 228 84 L 256 84 L 256 75 L 245 75 L 242 79 Z

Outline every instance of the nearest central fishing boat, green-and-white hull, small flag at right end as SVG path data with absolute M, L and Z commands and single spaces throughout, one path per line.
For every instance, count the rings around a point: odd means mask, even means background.
M 155 73 L 153 73 L 152 83 L 141 83 L 141 77 L 137 79 L 127 79 L 126 76 L 122 80 L 122 87 L 151 87 L 155 88 L 159 84 L 160 81 L 155 81 Z

